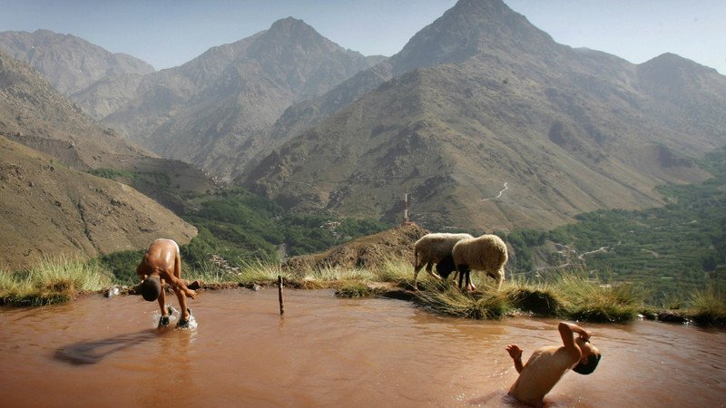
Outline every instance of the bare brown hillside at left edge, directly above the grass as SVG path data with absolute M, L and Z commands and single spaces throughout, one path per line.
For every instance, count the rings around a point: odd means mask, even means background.
M 196 228 L 131 187 L 65 167 L 0 136 L 0 269 L 44 257 L 98 257 L 142 249 L 155 238 L 181 244 Z

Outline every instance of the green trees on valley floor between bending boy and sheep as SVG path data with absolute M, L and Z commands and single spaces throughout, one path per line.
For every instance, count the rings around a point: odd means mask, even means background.
M 373 219 L 283 214 L 271 200 L 239 187 L 187 199 L 184 219 L 200 231 L 188 248 L 182 248 L 182 256 L 192 267 L 201 267 L 212 254 L 231 264 L 274 261 L 282 245 L 288 256 L 321 252 L 386 228 Z

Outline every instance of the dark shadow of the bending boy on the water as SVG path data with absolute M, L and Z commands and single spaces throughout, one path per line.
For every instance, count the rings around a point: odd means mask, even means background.
M 66 345 L 55 350 L 54 358 L 74 365 L 96 364 L 108 355 L 157 338 L 162 332 L 160 329 L 142 330 L 141 332 L 116 335 L 102 340 Z

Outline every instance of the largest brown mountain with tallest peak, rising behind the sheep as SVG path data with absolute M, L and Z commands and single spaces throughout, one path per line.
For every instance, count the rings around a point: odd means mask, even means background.
M 388 61 L 289 108 L 237 182 L 292 210 L 396 220 L 407 192 L 427 228 L 551 228 L 708 178 L 697 159 L 726 142 L 724 108 L 715 70 L 572 49 L 499 0 L 461 0 Z

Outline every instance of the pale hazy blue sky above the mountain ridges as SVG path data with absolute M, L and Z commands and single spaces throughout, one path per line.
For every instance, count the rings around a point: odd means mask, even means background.
M 486 1 L 486 0 L 482 0 Z M 554 41 L 643 63 L 677 53 L 726 74 L 724 0 L 505 0 Z M 397 53 L 455 0 L 0 0 L 0 31 L 74 34 L 162 69 L 295 17 L 366 55 Z

